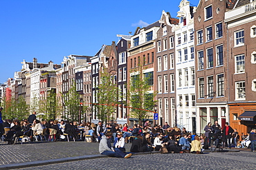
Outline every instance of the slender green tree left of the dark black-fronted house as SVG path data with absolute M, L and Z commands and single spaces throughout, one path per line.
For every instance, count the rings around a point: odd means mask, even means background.
M 97 100 L 95 107 L 98 110 L 98 118 L 107 123 L 107 120 L 113 120 L 116 106 L 118 105 L 118 87 L 113 83 L 113 76 L 106 70 L 100 73 L 100 84 L 97 90 Z

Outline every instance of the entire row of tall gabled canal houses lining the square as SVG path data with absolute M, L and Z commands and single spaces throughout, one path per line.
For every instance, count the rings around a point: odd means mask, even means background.
M 204 133 L 205 125 L 215 120 L 221 127 L 230 123 L 240 133 L 255 127 L 256 1 L 201 0 L 191 6 L 182 0 L 177 16 L 163 11 L 158 21 L 137 28 L 134 35 L 118 37 L 117 43 L 102 45 L 95 56 L 64 56 L 61 67 L 41 64 L 54 67 L 52 84 L 47 83 L 48 76 L 33 76 L 36 70 L 44 70 L 37 61 L 24 61 L 19 72 L 20 94 L 29 103 L 35 96 L 46 98 L 47 90 L 55 89 L 62 103 L 62 94 L 75 81 L 81 102 L 91 107 L 83 119 L 98 123 L 92 103 L 98 103 L 100 72 L 107 69 L 119 92 L 125 94 L 131 70 L 142 65 L 152 86 L 149 93 L 157 92 L 156 124 L 167 122 L 196 133 Z M 134 125 L 138 120 L 129 116 L 126 98 L 118 100 L 121 104 L 113 113 L 114 121 Z

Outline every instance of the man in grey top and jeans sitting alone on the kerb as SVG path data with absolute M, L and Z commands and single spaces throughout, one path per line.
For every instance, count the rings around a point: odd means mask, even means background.
M 105 156 L 111 156 L 111 157 L 116 157 L 116 158 L 130 158 L 131 153 L 125 153 L 118 150 L 114 150 L 113 147 L 111 147 L 111 140 L 112 138 L 112 133 L 107 132 L 105 135 L 102 136 L 100 140 L 100 145 L 99 145 L 99 152 L 102 155 Z

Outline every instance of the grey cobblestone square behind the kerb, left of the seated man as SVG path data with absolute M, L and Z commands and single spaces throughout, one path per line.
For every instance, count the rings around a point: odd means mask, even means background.
M 131 144 L 127 144 L 129 151 Z M 97 142 L 30 142 L 6 145 L 0 142 L 0 165 L 99 154 Z M 15 156 L 14 156 L 15 155 Z

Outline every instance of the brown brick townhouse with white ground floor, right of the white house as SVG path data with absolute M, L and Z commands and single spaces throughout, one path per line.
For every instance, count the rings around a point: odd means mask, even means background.
M 194 10 L 196 132 L 228 121 L 228 65 L 224 13 L 234 1 L 201 0 Z

